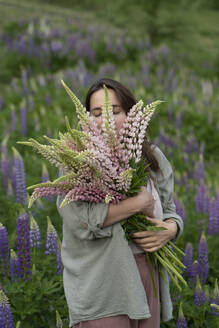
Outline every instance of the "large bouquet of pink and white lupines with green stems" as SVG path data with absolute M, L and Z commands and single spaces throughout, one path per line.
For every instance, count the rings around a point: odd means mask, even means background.
M 162 101 L 155 101 L 144 107 L 140 100 L 128 112 L 123 128 L 117 136 L 108 90 L 105 90 L 102 108 L 102 128 L 99 129 L 94 117 L 87 112 L 75 94 L 62 81 L 67 93 L 76 106 L 78 127 L 72 129 L 66 119 L 67 131 L 59 133 L 59 139 L 45 136 L 49 144 L 40 144 L 34 139 L 20 144 L 33 147 L 50 163 L 64 172 L 64 175 L 52 182 L 33 185 L 34 189 L 29 207 L 41 197 L 63 195 L 60 207 L 72 201 L 118 203 L 127 197 L 136 195 L 141 186 L 146 186 L 148 165 L 142 158 L 142 145 L 148 123 L 155 108 Z M 125 237 L 137 231 L 163 230 L 147 221 L 142 213 L 123 220 L 121 225 Z M 181 290 L 179 281 L 186 285 L 181 276 L 184 265 L 175 251 L 184 255 L 173 243 L 152 254 L 147 253 L 155 264 L 159 262 L 167 270 L 176 286 Z M 152 270 L 151 270 L 152 272 Z M 161 271 L 162 273 L 162 271 Z

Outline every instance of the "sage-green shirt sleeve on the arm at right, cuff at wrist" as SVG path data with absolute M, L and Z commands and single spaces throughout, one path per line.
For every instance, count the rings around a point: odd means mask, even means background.
M 159 171 L 153 172 L 155 175 L 156 185 L 160 196 L 161 204 L 163 207 L 164 220 L 173 218 L 177 223 L 177 234 L 174 239 L 179 238 L 183 232 L 183 220 L 176 213 L 176 206 L 174 203 L 174 176 L 170 162 L 167 160 L 162 151 L 158 148 L 154 148 L 154 155 L 159 163 Z

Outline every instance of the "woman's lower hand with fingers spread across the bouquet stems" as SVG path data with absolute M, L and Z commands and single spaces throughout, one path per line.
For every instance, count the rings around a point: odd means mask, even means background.
M 168 219 L 160 221 L 158 219 L 147 218 L 155 223 L 156 227 L 164 227 L 167 230 L 141 231 L 132 235 L 132 240 L 145 252 L 155 252 L 162 248 L 169 240 L 176 236 L 177 224 L 174 220 Z

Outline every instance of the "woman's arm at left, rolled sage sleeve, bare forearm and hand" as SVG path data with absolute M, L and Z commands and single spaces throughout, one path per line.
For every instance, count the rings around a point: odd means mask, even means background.
M 154 198 L 142 187 L 137 196 L 127 198 L 119 204 L 74 201 L 60 208 L 64 196 L 57 197 L 57 209 L 69 234 L 83 240 L 110 238 L 112 225 L 134 213 L 153 213 Z

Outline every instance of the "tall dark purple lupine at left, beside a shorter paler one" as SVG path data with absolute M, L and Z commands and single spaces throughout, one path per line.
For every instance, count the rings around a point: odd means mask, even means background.
M 17 254 L 22 278 L 29 279 L 31 275 L 30 227 L 29 215 L 24 212 L 19 214 L 17 220 Z

